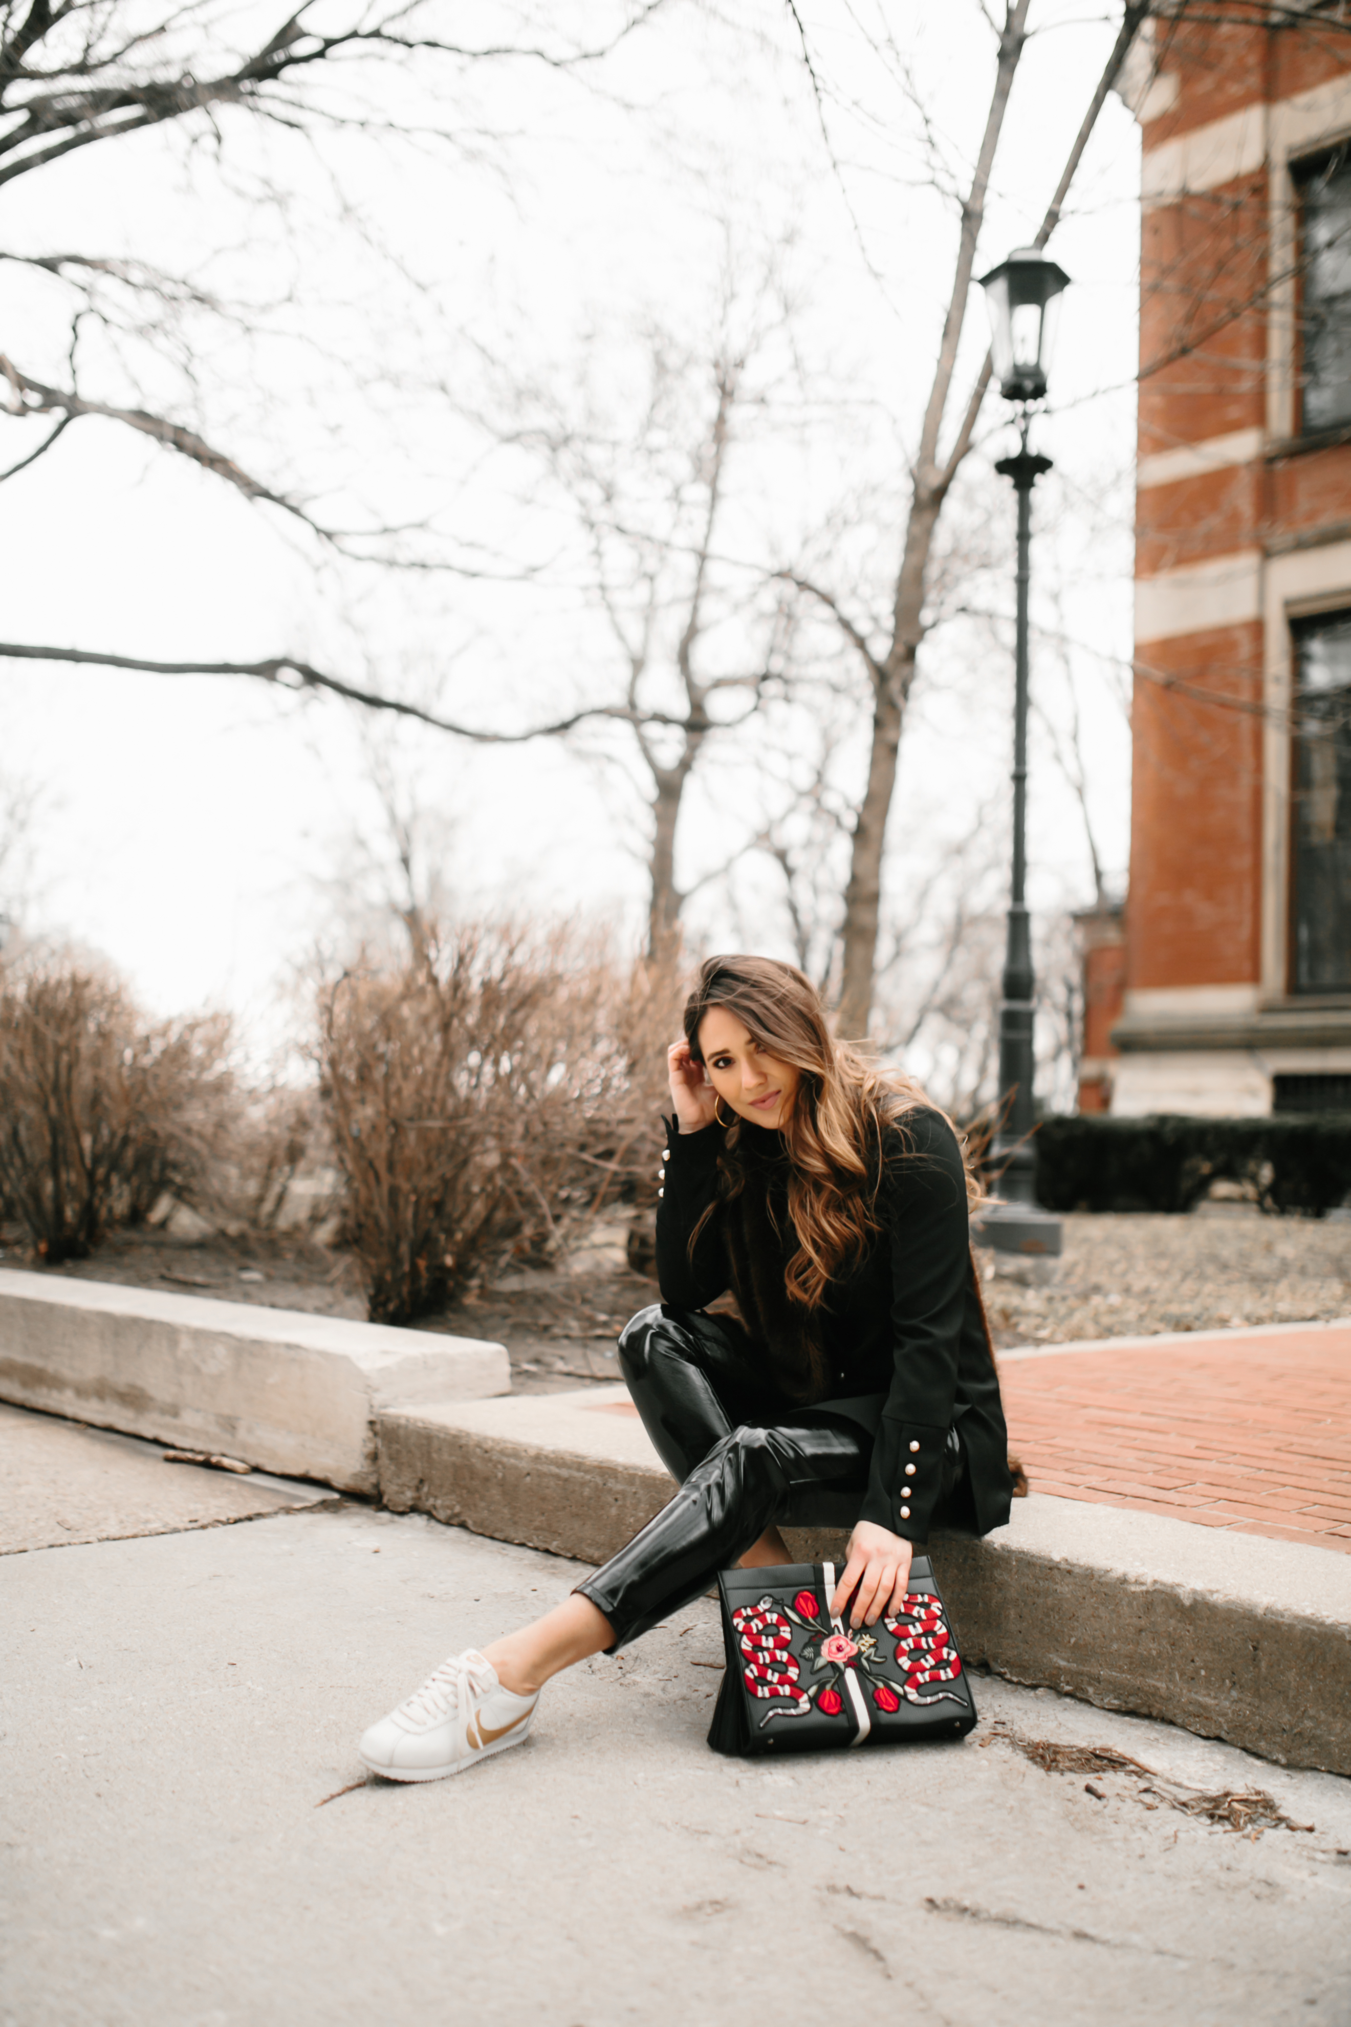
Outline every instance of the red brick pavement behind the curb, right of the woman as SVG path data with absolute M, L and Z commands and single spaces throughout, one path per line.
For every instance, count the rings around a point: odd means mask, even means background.
M 1351 1326 L 1001 1360 L 1035 1492 L 1351 1555 Z

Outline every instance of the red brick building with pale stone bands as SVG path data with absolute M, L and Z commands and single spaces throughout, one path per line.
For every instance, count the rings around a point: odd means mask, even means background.
M 1130 896 L 1084 1103 L 1351 1109 L 1351 4 L 1205 16 L 1128 87 Z

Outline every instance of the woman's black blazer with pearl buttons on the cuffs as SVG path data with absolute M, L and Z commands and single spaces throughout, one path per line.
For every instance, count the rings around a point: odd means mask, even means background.
M 782 1145 L 764 1127 L 743 1123 L 741 1135 L 749 1159 L 758 1145 L 766 1155 Z M 677 1309 L 703 1309 L 731 1285 L 721 1206 L 693 1259 L 689 1251 L 691 1232 L 717 1196 L 723 1137 L 719 1125 L 681 1133 L 674 1119 L 668 1123 L 656 1277 L 662 1301 Z M 1009 1520 L 1009 1435 L 970 1257 L 962 1153 L 948 1121 L 930 1107 L 885 1129 L 879 1212 L 883 1230 L 832 1285 L 820 1311 L 830 1393 L 816 1411 L 875 1437 L 859 1518 L 916 1543 L 928 1541 L 944 1445 L 956 1427 L 976 1528 L 988 1534 Z M 786 1265 L 796 1251 L 786 1206 L 782 1226 Z

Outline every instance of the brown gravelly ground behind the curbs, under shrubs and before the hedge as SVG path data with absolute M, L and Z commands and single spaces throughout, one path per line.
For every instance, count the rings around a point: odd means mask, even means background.
M 995 1342 L 1065 1344 L 1074 1338 L 1150 1336 L 1351 1316 L 1351 1222 L 1264 1218 L 1256 1206 L 1209 1204 L 1187 1218 L 1065 1218 L 1055 1281 L 1025 1287 L 982 1251 Z M 614 1259 L 614 1255 L 610 1255 Z M 6 1267 L 28 1267 L 14 1245 Z M 83 1281 L 122 1281 L 277 1309 L 363 1318 L 352 1261 L 304 1243 L 186 1243 L 162 1232 L 115 1234 L 93 1259 L 55 1269 Z M 516 1393 L 553 1393 L 618 1376 L 614 1340 L 634 1309 L 656 1299 L 644 1275 L 512 1273 L 468 1293 L 419 1330 L 506 1344 Z

